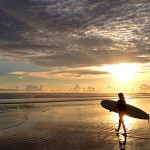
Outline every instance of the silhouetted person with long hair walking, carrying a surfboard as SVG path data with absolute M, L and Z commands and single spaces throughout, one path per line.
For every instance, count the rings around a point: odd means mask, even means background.
M 118 113 L 119 114 L 119 125 L 118 125 L 118 129 L 115 129 L 115 131 L 119 132 L 121 124 L 122 124 L 124 133 L 126 134 L 126 127 L 125 127 L 125 123 L 123 120 L 123 116 L 125 114 L 124 112 L 126 110 L 126 100 L 125 100 L 123 93 L 118 93 L 118 97 L 119 97 L 119 100 L 117 101 L 116 106 L 111 110 L 111 111 L 113 111 L 117 108 L 119 109 L 119 113 Z

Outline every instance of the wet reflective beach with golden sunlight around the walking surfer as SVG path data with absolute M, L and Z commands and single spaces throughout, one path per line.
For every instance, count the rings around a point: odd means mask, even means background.
M 56 94 L 57 95 L 57 94 Z M 1 150 L 150 150 L 147 120 L 125 118 L 127 136 L 115 132 L 118 115 L 102 108 L 114 95 L 0 99 Z M 127 96 L 150 113 L 150 95 Z

